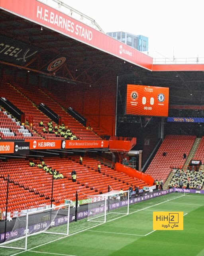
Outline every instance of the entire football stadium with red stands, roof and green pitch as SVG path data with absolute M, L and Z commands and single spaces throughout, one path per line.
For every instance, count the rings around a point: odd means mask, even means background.
M 64 2 L 0 0 L 0 256 L 204 256 L 203 84 Z

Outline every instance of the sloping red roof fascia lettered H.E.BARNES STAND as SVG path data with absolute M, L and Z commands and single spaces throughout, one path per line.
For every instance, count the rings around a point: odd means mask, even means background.
M 37 0 L 0 0 L 0 8 L 152 70 L 153 58 Z

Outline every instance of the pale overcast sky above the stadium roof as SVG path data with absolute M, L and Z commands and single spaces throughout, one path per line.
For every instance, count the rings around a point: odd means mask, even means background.
M 204 57 L 204 0 L 63 0 L 104 32 L 149 37 L 156 58 Z

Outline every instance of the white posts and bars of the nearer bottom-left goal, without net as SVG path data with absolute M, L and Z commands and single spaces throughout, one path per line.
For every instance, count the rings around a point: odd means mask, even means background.
M 47 232 L 47 231 L 38 231 L 38 232 L 35 232 L 33 234 L 28 234 L 28 218 L 30 215 L 32 214 L 36 214 L 36 213 L 40 213 L 40 212 L 45 212 L 46 210 L 49 211 L 49 210 L 53 210 L 53 209 L 57 209 L 57 208 L 64 208 L 68 206 L 68 215 L 67 215 L 67 232 L 66 233 L 58 233 L 58 232 Z M 69 236 L 69 216 L 70 216 L 70 204 L 61 204 L 61 205 L 58 205 L 58 206 L 53 206 L 51 208 L 44 208 L 44 209 L 41 209 L 41 210 L 36 210 L 36 211 L 33 211 L 33 212 L 27 212 L 26 213 L 26 228 L 25 228 L 25 236 L 22 236 L 22 237 L 19 237 L 19 238 L 14 238 L 13 240 L 9 240 L 9 241 L 6 241 L 6 242 L 3 242 L 0 244 L 0 248 L 10 248 L 10 249 L 18 249 L 18 250 L 27 250 L 27 238 L 29 236 L 35 236 L 37 234 L 40 234 L 40 233 L 46 233 L 46 234 L 58 234 L 58 235 L 64 235 L 64 236 Z M 6 220 L 5 220 L 6 221 Z M 49 227 L 51 226 L 51 223 L 49 225 Z M 48 228 L 49 228 L 48 227 Z M 15 246 L 4 246 L 6 244 L 9 244 L 9 243 L 12 243 L 12 242 L 15 242 L 17 240 L 21 240 L 21 239 L 24 239 L 25 238 L 25 248 L 20 248 L 20 247 L 15 247 Z

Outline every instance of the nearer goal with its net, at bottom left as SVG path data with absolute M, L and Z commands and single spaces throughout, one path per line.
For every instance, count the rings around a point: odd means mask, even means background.
M 6 240 L 0 247 L 27 250 L 29 236 L 40 233 L 68 236 L 69 214 L 70 204 L 21 214 L 16 218 L 12 232 L 6 235 Z M 37 238 L 35 241 L 37 242 Z

